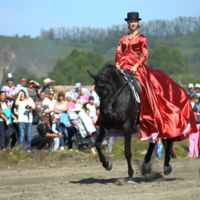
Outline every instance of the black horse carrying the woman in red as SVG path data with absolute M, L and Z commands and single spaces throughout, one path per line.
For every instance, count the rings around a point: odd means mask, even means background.
M 101 143 L 107 131 L 118 126 L 124 132 L 125 149 L 124 155 L 128 163 L 128 182 L 133 182 L 133 168 L 131 165 L 131 134 L 132 126 L 136 125 L 139 112 L 139 104 L 132 95 L 127 80 L 117 70 L 116 66 L 106 64 L 97 75 L 88 71 L 89 75 L 95 80 L 95 91 L 100 97 L 100 113 L 102 117 L 99 135 L 95 142 L 100 161 L 106 170 L 112 169 L 112 163 L 106 160 L 101 151 Z M 172 171 L 170 161 L 170 139 L 167 139 L 165 148 L 164 174 L 167 175 Z M 145 156 L 142 166 L 143 174 L 151 172 L 150 160 L 156 143 L 150 143 L 148 152 Z

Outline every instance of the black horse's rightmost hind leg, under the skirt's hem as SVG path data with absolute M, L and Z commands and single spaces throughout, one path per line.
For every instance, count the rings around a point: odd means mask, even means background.
M 166 142 L 166 145 L 164 145 L 164 148 L 165 148 L 164 174 L 168 175 L 172 172 L 172 166 L 169 164 L 172 141 L 170 138 L 163 139 L 163 140 L 165 140 L 164 142 Z

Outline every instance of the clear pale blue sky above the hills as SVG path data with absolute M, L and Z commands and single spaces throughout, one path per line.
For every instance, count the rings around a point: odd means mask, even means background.
M 200 0 L 0 0 L 0 35 L 40 35 L 43 28 L 107 28 L 126 23 L 128 12 L 143 22 L 200 16 Z

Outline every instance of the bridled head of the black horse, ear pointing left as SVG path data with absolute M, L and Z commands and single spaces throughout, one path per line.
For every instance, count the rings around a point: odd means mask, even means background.
M 106 64 L 97 75 L 89 71 L 88 73 L 95 80 L 95 91 L 101 99 L 107 99 L 117 91 L 117 86 L 120 84 L 120 74 L 115 65 Z

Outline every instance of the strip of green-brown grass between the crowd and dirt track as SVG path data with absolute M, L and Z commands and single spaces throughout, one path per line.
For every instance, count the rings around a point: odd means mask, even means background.
M 187 158 L 188 154 L 188 141 L 175 142 L 175 154 L 178 159 Z M 132 159 L 143 160 L 145 152 L 148 148 L 147 141 L 140 141 L 138 138 L 133 138 L 131 140 L 131 151 L 132 151 Z M 103 153 L 106 156 L 111 157 L 123 157 L 124 158 L 124 140 L 116 140 L 113 145 L 112 153 L 106 153 L 105 149 L 103 149 Z M 32 153 L 27 153 L 26 151 L 20 152 L 18 148 L 11 151 L 7 149 L 5 152 L 0 152 L 0 166 L 12 166 L 19 163 L 25 164 L 38 164 L 38 165 L 51 165 L 52 163 L 58 164 L 63 163 L 66 164 L 71 163 L 72 161 L 77 161 L 81 159 L 94 159 L 96 155 L 92 155 L 89 151 L 57 151 L 51 152 L 49 150 L 33 150 Z M 155 159 L 155 154 L 153 154 L 152 159 Z M 161 160 L 164 159 L 164 154 L 162 154 Z

